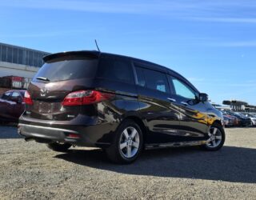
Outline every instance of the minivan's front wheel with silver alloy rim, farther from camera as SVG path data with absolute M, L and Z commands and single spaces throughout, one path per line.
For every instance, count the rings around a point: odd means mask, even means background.
M 226 134 L 223 127 L 216 123 L 210 126 L 209 136 L 213 137 L 213 140 L 203 145 L 203 149 L 209 151 L 216 151 L 221 149 L 226 139 Z

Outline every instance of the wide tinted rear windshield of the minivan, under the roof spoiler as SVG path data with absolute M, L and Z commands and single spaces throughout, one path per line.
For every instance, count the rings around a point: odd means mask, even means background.
M 33 81 L 37 78 L 47 78 L 50 82 L 66 81 L 77 78 L 94 78 L 98 65 L 98 59 L 62 60 L 57 62 L 46 62 Z

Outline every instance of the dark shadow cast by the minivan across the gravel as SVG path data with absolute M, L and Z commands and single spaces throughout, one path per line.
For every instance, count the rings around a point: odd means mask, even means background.
M 56 158 L 121 174 L 256 183 L 256 149 L 242 147 L 223 146 L 216 152 L 198 147 L 146 150 L 126 166 L 109 162 L 102 150 L 70 150 Z

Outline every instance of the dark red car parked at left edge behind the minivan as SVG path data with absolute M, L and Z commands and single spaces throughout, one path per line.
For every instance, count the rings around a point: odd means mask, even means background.
M 9 90 L 0 98 L 0 122 L 18 122 L 25 110 L 23 102 L 26 90 Z

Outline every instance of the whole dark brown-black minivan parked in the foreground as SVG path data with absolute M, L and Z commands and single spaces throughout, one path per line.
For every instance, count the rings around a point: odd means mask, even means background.
M 19 133 L 57 151 L 97 146 L 114 162 L 133 162 L 143 148 L 225 141 L 222 114 L 180 74 L 98 51 L 50 54 L 25 94 Z

